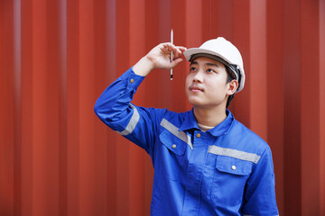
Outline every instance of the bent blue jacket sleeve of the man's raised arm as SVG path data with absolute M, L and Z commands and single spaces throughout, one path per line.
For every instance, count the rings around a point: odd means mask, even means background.
M 165 110 L 137 107 L 131 103 L 144 76 L 132 68 L 107 87 L 95 104 L 98 118 L 109 128 L 131 140 L 153 156 L 153 143 L 157 123 Z

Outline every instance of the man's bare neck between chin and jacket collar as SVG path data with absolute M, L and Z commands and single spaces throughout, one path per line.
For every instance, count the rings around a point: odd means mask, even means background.
M 194 107 L 196 120 L 205 126 L 216 127 L 227 118 L 226 109 Z

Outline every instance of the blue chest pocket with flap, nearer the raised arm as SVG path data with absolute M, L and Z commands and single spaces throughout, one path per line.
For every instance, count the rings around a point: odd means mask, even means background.
M 166 175 L 171 180 L 178 180 L 181 166 L 184 164 L 187 143 L 168 130 L 163 130 L 159 139 L 162 143 L 159 147 L 159 169 L 162 175 Z

